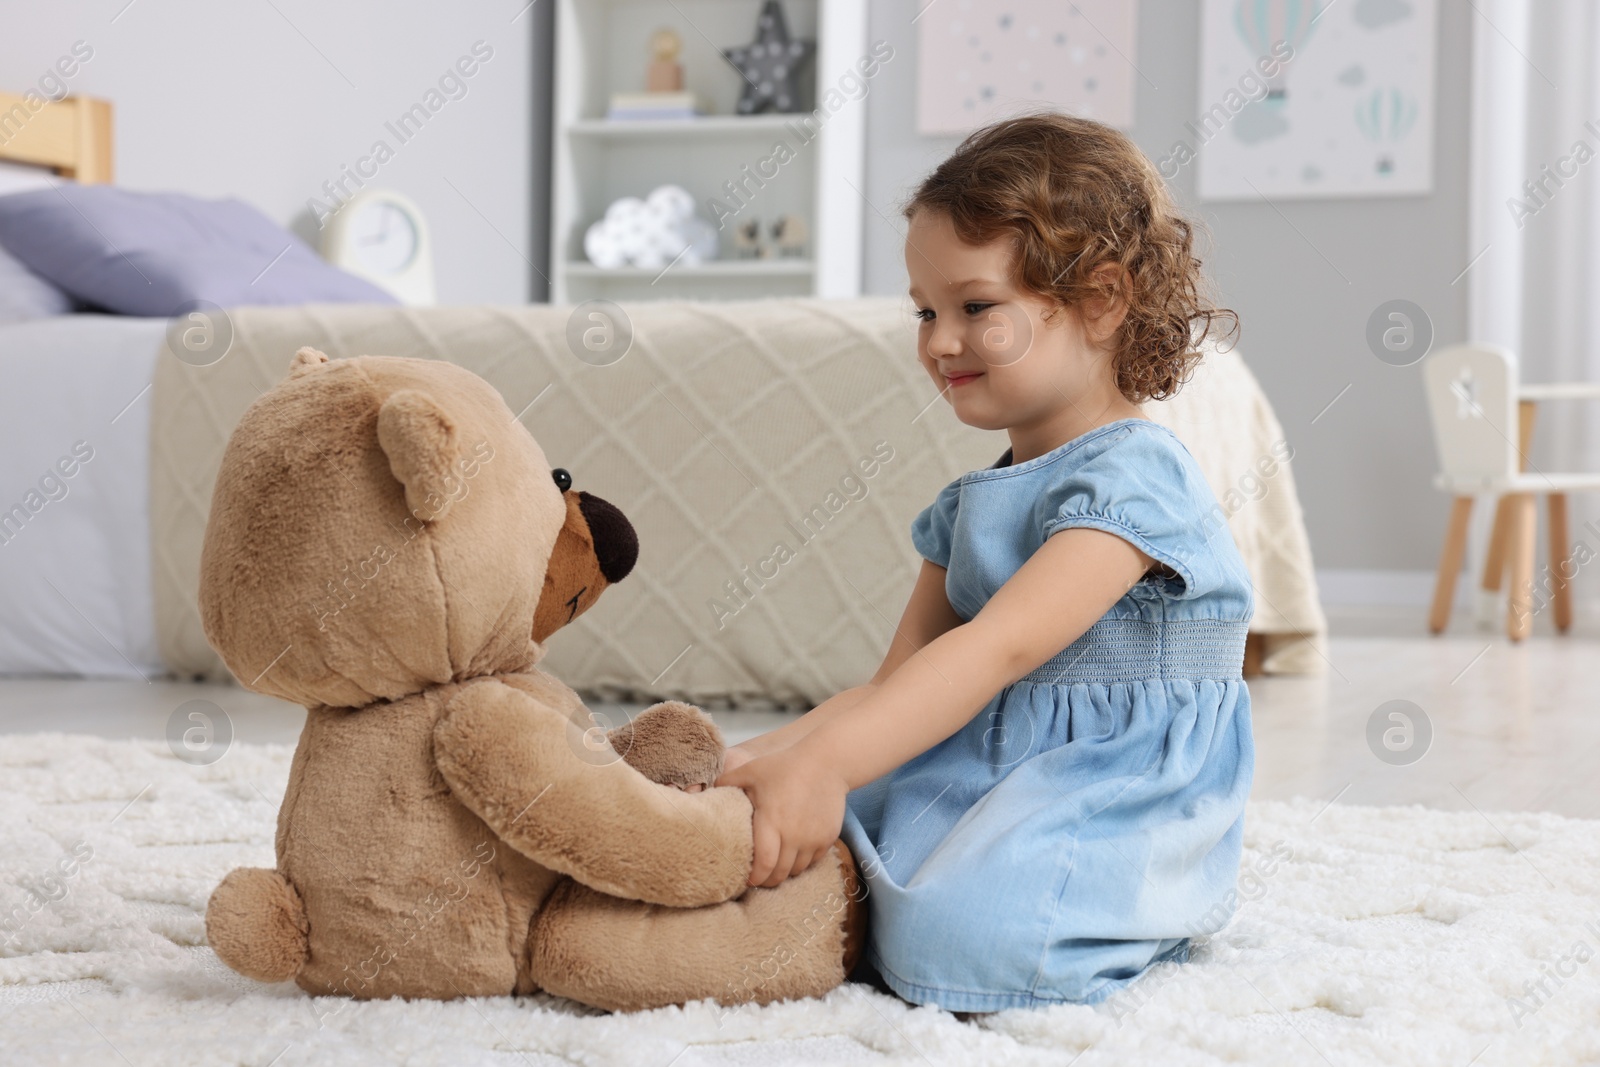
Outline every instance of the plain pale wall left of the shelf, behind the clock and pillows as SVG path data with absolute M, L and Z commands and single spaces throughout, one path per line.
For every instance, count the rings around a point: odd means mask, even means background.
M 6 3 L 0 86 L 75 40 L 70 88 L 117 109 L 117 184 L 240 197 L 315 240 L 306 200 L 354 165 L 475 40 L 493 58 L 373 184 L 426 213 L 442 302 L 530 293 L 531 14 L 512 0 L 61 0 Z M 539 6 L 550 6 L 546 3 Z M 394 141 L 394 138 L 389 138 Z

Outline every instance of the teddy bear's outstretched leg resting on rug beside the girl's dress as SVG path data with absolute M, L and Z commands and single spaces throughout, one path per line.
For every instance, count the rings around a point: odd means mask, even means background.
M 710 907 L 659 907 L 568 881 L 531 931 L 533 976 L 546 992 L 611 1011 L 821 997 L 861 953 L 862 897 L 843 841 L 779 886 Z

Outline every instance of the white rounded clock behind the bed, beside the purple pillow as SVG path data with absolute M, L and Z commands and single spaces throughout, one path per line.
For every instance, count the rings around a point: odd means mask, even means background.
M 422 211 L 389 189 L 363 189 L 322 230 L 322 258 L 394 293 L 403 304 L 434 302 L 434 243 Z

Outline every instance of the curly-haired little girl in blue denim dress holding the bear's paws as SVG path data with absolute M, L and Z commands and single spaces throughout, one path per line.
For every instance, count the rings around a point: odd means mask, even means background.
M 1254 747 L 1250 576 L 1194 458 L 1139 405 L 1214 320 L 1190 226 L 1128 138 L 1035 115 L 906 208 L 917 355 L 1010 435 L 912 522 L 872 681 L 730 750 L 752 885 L 843 835 L 867 961 L 950 1011 L 1098 1001 L 1230 912 Z

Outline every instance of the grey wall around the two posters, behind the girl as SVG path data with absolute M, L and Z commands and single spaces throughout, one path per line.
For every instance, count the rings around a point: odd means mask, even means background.
M 938 2 L 938 0 L 936 0 Z M 926 0 L 872 0 L 872 40 L 896 59 L 867 98 L 867 186 L 898 224 L 898 205 L 955 139 L 915 133 L 917 32 Z M 1160 158 L 1184 138 L 1198 96 L 1197 0 L 1141 0 L 1136 125 Z M 1200 203 L 1194 165 L 1171 182 L 1211 232 L 1206 259 L 1222 302 L 1242 320 L 1240 352 L 1294 448 L 1296 478 L 1318 569 L 1426 569 L 1438 558 L 1445 499 L 1430 488 L 1434 448 L 1416 366 L 1381 363 L 1365 342 L 1384 301 L 1421 304 L 1435 344 L 1464 339 L 1470 8 L 1440 5 L 1434 194 L 1427 197 Z M 1154 88 L 1152 85 L 1154 83 Z M 870 293 L 904 293 L 902 242 L 867 213 Z M 1338 403 L 1317 418 L 1341 389 Z M 1315 419 L 1315 424 L 1312 424 Z

